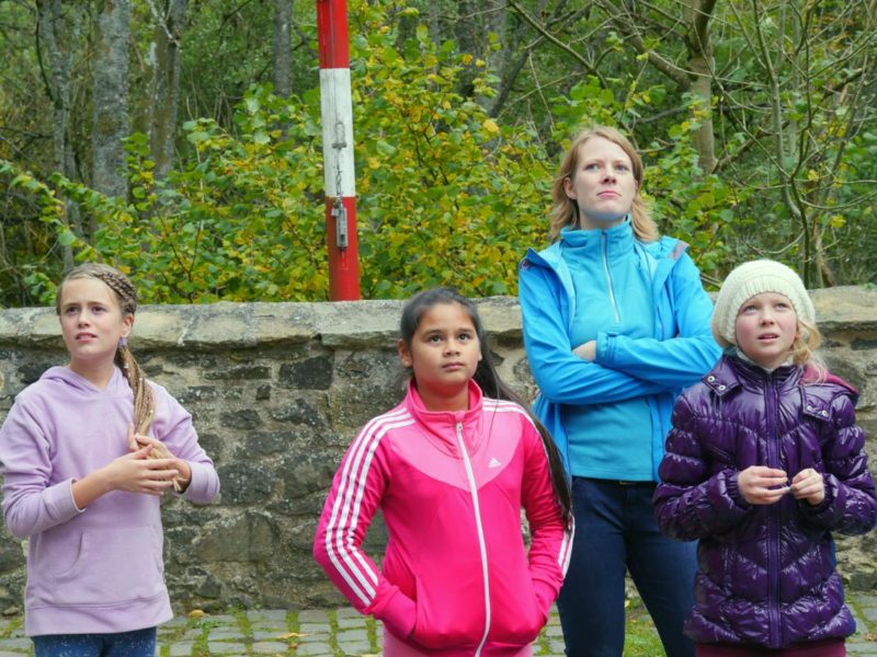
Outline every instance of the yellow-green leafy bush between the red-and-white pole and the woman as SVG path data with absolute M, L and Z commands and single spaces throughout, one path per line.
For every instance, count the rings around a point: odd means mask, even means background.
M 397 46 L 381 3 L 362 9 L 353 68 L 363 295 L 433 285 L 513 293 L 523 250 L 545 240 L 550 173 L 539 143 L 457 95 L 468 61 L 453 44 L 417 30 Z

